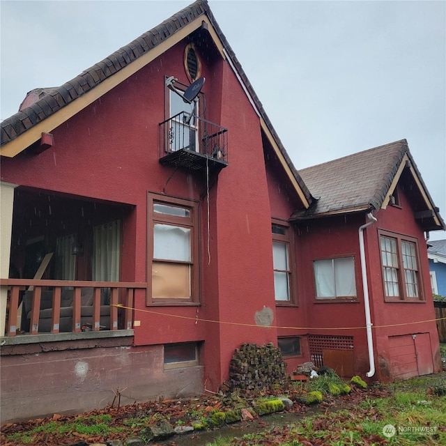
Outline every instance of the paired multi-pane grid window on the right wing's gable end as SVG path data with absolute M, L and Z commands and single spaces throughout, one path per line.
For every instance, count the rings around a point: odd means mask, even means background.
M 417 241 L 380 231 L 380 253 L 385 300 L 422 300 Z

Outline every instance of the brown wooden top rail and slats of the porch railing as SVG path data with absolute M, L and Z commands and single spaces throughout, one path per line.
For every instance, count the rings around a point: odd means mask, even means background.
M 6 321 L 7 336 L 17 334 L 17 315 L 20 305 L 20 291 L 33 290 L 31 321 L 29 334 L 39 334 L 40 299 L 43 289 L 52 291 L 51 333 L 59 333 L 61 290 L 72 289 L 72 332 L 81 332 L 81 292 L 82 288 L 93 288 L 93 310 L 91 331 L 99 331 L 101 290 L 109 289 L 109 330 L 128 330 L 132 328 L 134 294 L 137 290 L 146 290 L 146 283 L 137 282 L 89 282 L 78 280 L 36 280 L 36 279 L 0 279 L 0 286 L 8 286 L 8 316 Z M 119 311 L 118 305 L 123 305 Z M 3 334 L 0 334 L 0 336 Z

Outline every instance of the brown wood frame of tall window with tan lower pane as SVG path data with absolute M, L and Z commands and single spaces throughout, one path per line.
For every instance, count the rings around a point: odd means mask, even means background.
M 189 217 L 177 217 L 175 215 L 158 214 L 153 211 L 153 204 L 160 203 L 167 206 L 178 206 L 190 210 Z M 184 298 L 153 298 L 152 264 L 153 258 L 153 227 L 155 224 L 172 224 L 190 229 L 190 299 Z M 199 305 L 199 202 L 195 200 L 180 199 L 167 195 L 148 192 L 147 194 L 147 297 L 146 305 L 156 306 L 190 306 Z M 172 262 L 177 264 L 176 262 Z M 183 263 L 178 263 L 183 264 Z

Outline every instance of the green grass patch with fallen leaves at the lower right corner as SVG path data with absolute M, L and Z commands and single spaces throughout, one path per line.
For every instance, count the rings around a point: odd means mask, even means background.
M 207 446 L 258 446 L 270 444 L 268 439 L 271 444 L 281 446 L 301 446 L 305 441 L 314 440 L 332 446 L 446 445 L 446 396 L 427 392 L 427 387 L 417 386 L 416 379 L 412 383 L 408 381 L 392 385 L 388 397 L 367 397 L 348 410 L 305 417 L 282 428 L 233 440 L 219 439 Z M 325 384 L 319 386 L 322 390 Z M 387 424 L 396 429 L 396 435 L 391 438 L 386 438 L 383 433 Z M 277 438 L 281 443 L 272 443 Z

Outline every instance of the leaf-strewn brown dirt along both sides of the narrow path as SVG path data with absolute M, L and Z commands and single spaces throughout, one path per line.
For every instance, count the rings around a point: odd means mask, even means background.
M 404 388 L 405 385 L 416 385 L 418 389 L 428 389 L 433 380 L 446 380 L 446 371 L 443 371 L 440 374 L 420 377 L 415 381 L 409 380 L 407 383 L 402 382 L 398 385 L 401 386 L 401 388 Z M 350 394 L 337 398 L 324 397 L 323 403 L 315 406 L 305 406 L 304 404 L 299 403 L 298 397 L 300 392 L 301 390 L 287 390 L 284 392 L 289 394 L 289 398 L 293 401 L 293 407 L 282 413 L 276 413 L 265 417 L 254 417 L 253 419 L 248 419 L 243 422 L 226 424 L 219 429 L 212 429 L 210 431 L 194 431 L 193 433 L 176 435 L 168 440 L 157 442 L 157 444 L 166 446 L 186 446 L 190 445 L 191 440 L 193 440 L 194 445 L 204 446 L 206 443 L 212 442 L 219 437 L 233 438 L 236 436 L 243 436 L 245 433 L 262 431 L 268 429 L 268 427 L 283 426 L 287 423 L 291 424 L 307 415 L 326 413 L 328 411 L 336 411 L 339 409 L 353 409 L 366 398 L 375 399 L 386 397 L 392 392 L 392 387 L 374 385 L 367 390 L 360 390 L 353 387 Z M 276 393 L 281 394 L 280 391 L 277 391 Z M 247 399 L 247 401 L 248 403 L 252 403 L 249 399 Z M 80 420 L 81 422 L 88 424 L 88 420 L 107 415 L 108 417 L 111 417 L 112 420 L 109 422 L 110 426 L 115 428 L 122 427 L 125 428 L 125 431 L 107 433 L 106 436 L 101 435 L 100 433 L 82 434 L 67 431 L 66 436 L 61 438 L 60 434 L 56 433 L 56 429 L 54 430 L 54 433 L 42 430 L 33 434 L 32 443 L 30 444 L 40 446 L 61 446 L 71 445 L 79 441 L 84 441 L 86 444 L 106 443 L 107 440 L 123 440 L 131 436 L 138 436 L 141 431 L 141 424 L 138 424 L 137 420 L 153 420 L 153 422 L 168 420 L 169 424 L 172 426 L 187 425 L 190 424 L 192 420 L 197 420 L 197 417 L 199 416 L 204 417 L 213 410 L 224 411 L 228 408 L 234 408 L 238 403 L 240 403 L 240 399 L 233 395 L 221 396 L 208 394 L 197 398 L 149 401 L 147 403 L 134 403 L 121 407 L 117 407 L 115 404 L 114 406 L 107 406 L 102 410 L 92 410 L 89 413 L 73 416 L 54 414 L 52 417 L 47 417 L 45 419 L 8 423 L 1 426 L 0 443 L 3 446 L 22 445 L 23 443 L 21 442 L 7 440 L 8 436 L 13 433 L 31 431 L 38 426 L 43 426 L 48 423 L 52 423 L 55 426 L 63 426 Z M 134 423 L 129 423 L 129 420 L 136 421 Z

